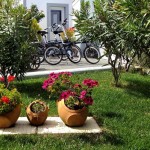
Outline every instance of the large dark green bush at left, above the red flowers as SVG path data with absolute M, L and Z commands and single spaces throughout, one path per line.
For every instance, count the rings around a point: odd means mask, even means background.
M 34 15 L 17 0 L 0 0 L 0 75 L 7 86 L 7 76 L 22 78 L 34 49 Z M 36 13 L 37 14 L 37 13 Z

